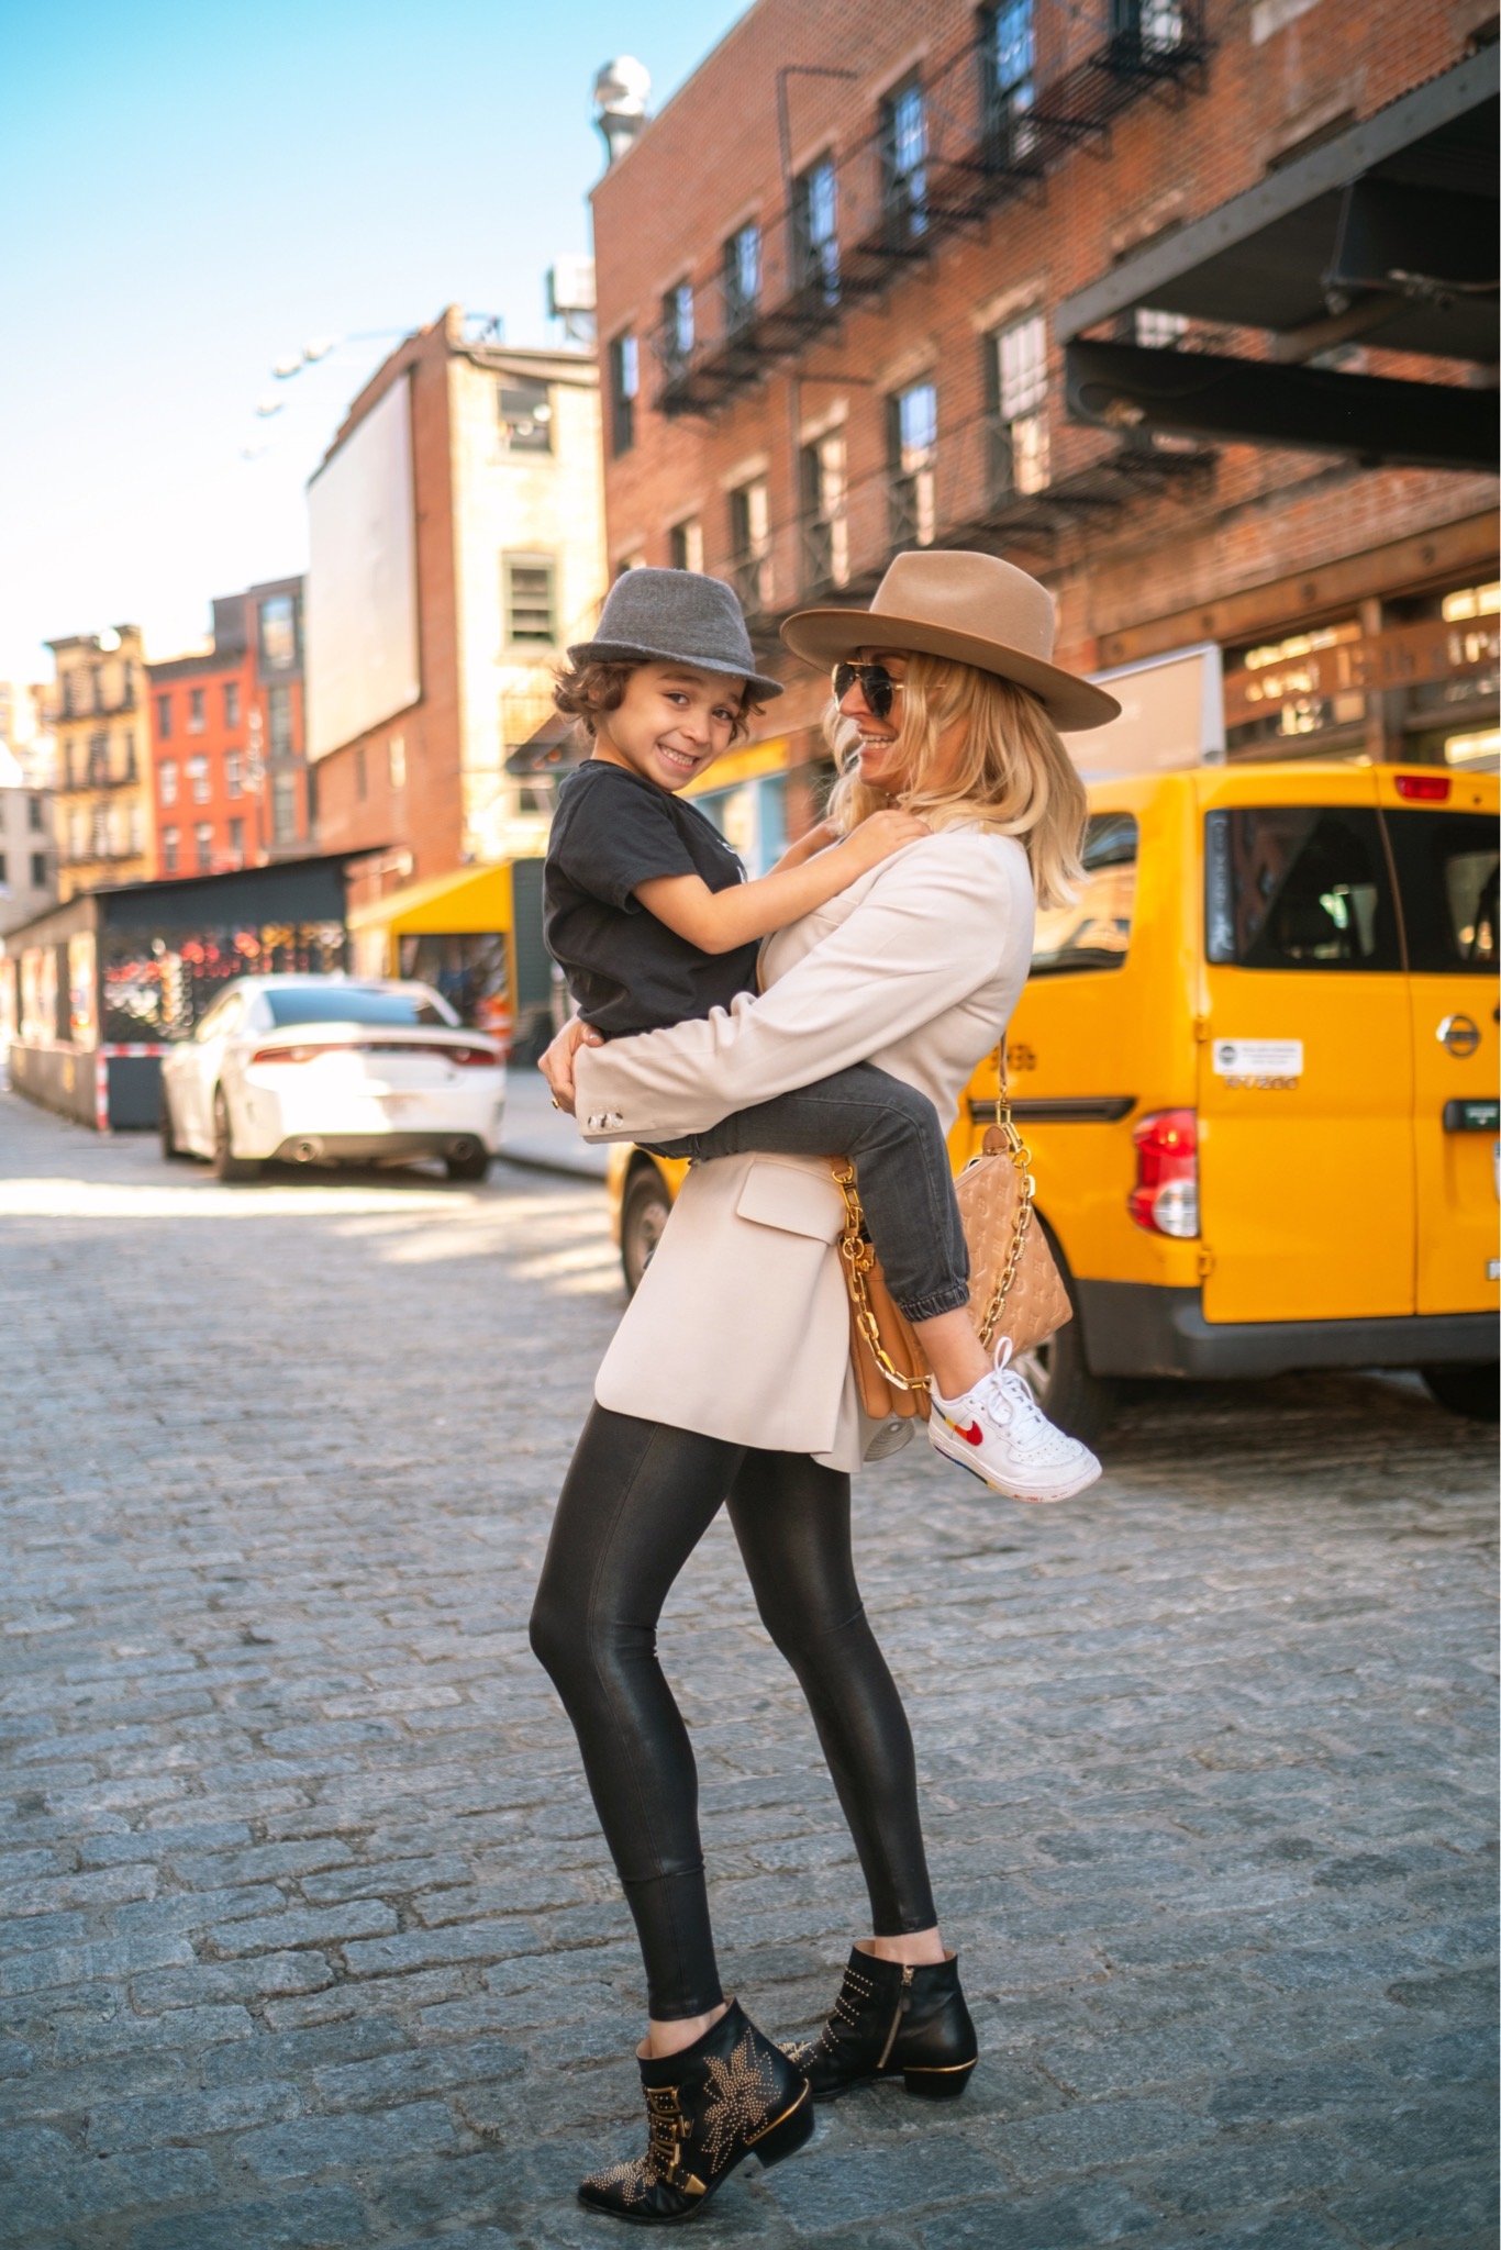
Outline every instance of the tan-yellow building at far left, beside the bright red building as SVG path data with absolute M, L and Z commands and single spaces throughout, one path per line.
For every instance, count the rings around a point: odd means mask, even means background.
M 153 862 L 146 664 L 140 626 L 47 641 L 61 900 L 101 882 L 144 882 Z

